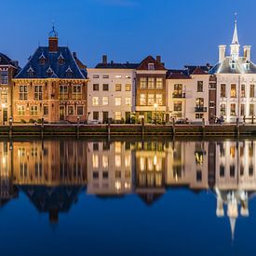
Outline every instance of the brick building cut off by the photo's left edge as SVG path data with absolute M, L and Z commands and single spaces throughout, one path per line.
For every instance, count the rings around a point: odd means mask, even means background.
M 18 61 L 0 53 L 0 125 L 7 125 L 12 116 L 12 81 L 19 71 Z

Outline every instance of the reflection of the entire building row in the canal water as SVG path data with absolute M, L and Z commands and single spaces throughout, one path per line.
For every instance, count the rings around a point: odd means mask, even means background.
M 154 204 L 169 187 L 216 195 L 218 217 L 249 216 L 256 141 L 1 141 L 1 206 L 23 192 L 50 222 L 78 195 L 136 194 Z

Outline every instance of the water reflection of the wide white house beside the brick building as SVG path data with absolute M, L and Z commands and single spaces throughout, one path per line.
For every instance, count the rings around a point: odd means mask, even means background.
M 88 143 L 88 194 L 124 195 L 132 191 L 129 142 Z

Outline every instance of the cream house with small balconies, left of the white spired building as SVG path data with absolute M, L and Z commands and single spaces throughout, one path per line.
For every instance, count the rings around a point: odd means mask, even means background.
M 209 121 L 209 65 L 168 70 L 168 115 L 189 121 Z M 212 104 L 212 103 L 211 103 Z

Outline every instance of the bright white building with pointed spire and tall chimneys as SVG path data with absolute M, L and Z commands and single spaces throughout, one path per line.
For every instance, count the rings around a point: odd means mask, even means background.
M 226 55 L 226 46 L 219 47 L 219 63 L 210 74 L 217 77 L 217 116 L 223 116 L 226 122 L 240 121 L 244 117 L 255 115 L 256 105 L 256 66 L 250 61 L 250 47 L 244 47 L 240 56 L 240 45 L 237 34 L 237 22 L 230 55 Z

